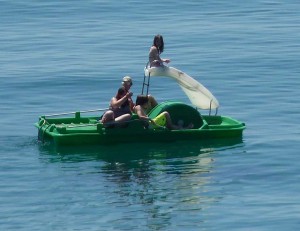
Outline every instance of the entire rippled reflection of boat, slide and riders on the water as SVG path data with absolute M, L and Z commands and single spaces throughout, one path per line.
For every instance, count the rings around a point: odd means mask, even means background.
M 112 211 L 126 207 L 128 213 L 141 214 L 149 226 L 159 224 L 159 228 L 165 228 L 176 214 L 190 214 L 191 219 L 199 220 L 197 211 L 222 199 L 209 192 L 215 152 L 240 145 L 241 140 L 217 140 L 59 150 L 40 145 L 39 149 L 42 161 L 59 163 L 60 167 L 63 164 L 64 171 L 89 178 L 96 174 L 97 182 L 87 190 L 98 188 L 101 194 L 109 195 L 102 206 L 109 206 Z

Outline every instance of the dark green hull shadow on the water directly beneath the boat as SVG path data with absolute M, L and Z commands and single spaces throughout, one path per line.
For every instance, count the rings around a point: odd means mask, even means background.
M 168 159 L 198 156 L 204 153 L 243 146 L 242 138 L 213 141 L 178 141 L 170 143 L 122 143 L 114 145 L 63 146 L 51 143 L 39 144 L 41 154 L 59 157 L 60 161 L 104 160 L 128 162 L 136 159 Z M 55 158 L 55 159 L 57 159 Z

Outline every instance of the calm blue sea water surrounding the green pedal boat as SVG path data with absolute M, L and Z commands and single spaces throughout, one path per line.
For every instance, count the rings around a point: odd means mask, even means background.
M 1 230 L 299 230 L 298 1 L 0 1 Z M 153 36 L 242 141 L 54 150 L 42 114 L 141 92 Z M 158 101 L 187 102 L 168 79 Z

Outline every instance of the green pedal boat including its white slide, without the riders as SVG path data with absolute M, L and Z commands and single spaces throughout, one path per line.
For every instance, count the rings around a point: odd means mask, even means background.
M 152 76 L 175 79 L 193 106 L 178 101 L 165 101 L 151 110 L 148 114 L 149 118 L 154 119 L 160 113 L 167 111 L 174 124 L 181 124 L 184 127 L 192 123 L 194 125 L 192 129 L 169 130 L 142 121 L 135 114 L 129 121 L 103 125 L 99 122 L 103 110 L 99 109 L 40 116 L 39 121 L 35 123 L 39 140 L 50 140 L 60 146 L 242 137 L 246 127 L 243 122 L 228 116 L 211 115 L 211 110 L 217 109 L 219 103 L 199 82 L 172 67 L 146 67 L 144 85 L 149 86 Z M 143 91 L 144 87 L 142 93 Z M 199 108 L 209 109 L 209 114 L 201 115 Z

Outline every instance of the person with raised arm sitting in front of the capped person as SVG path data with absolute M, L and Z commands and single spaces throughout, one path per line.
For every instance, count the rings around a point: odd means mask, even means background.
M 124 122 L 131 119 L 131 99 L 132 93 L 122 86 L 118 89 L 115 97 L 112 97 L 109 110 L 106 111 L 101 119 L 103 124 L 108 122 Z

